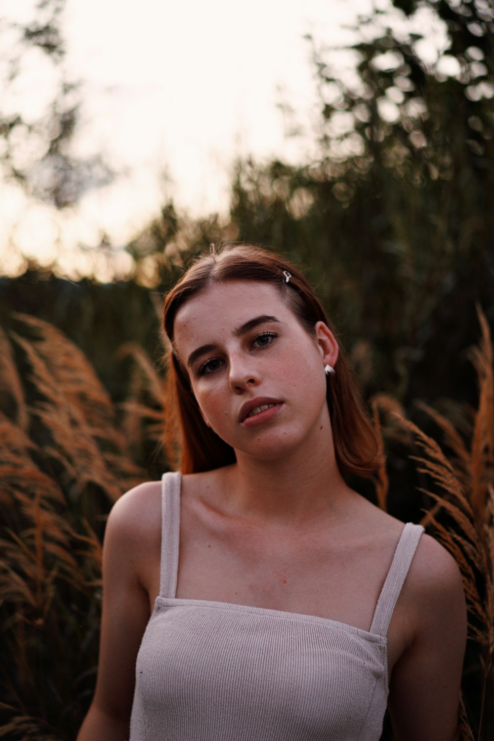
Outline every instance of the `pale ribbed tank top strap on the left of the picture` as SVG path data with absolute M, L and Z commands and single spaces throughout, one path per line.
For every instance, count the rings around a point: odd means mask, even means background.
M 161 478 L 161 565 L 160 597 L 175 597 L 180 536 L 180 471 L 164 473 Z

